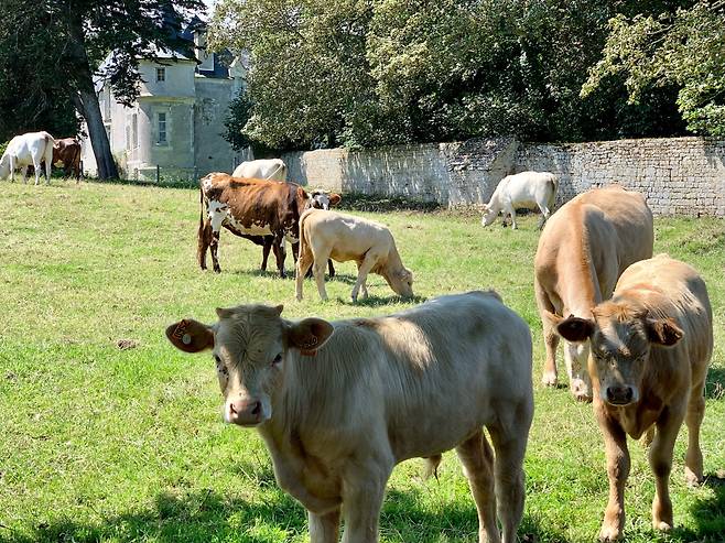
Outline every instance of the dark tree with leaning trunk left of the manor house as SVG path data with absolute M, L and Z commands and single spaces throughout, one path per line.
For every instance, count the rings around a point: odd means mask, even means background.
M 139 58 L 153 56 L 154 51 L 162 48 L 188 47 L 178 36 L 178 13 L 201 10 L 203 3 L 201 0 L 4 1 L 9 7 L 0 20 L 0 34 L 12 36 L 11 53 L 22 54 L 23 48 L 31 48 L 40 64 L 45 63 L 45 55 L 55 59 L 54 69 L 47 69 L 63 83 L 76 110 L 86 120 L 99 177 L 118 177 L 98 106 L 96 72 L 100 67 L 98 75 L 110 83 L 121 104 L 132 102 L 141 79 Z M 21 34 L 20 29 L 31 25 L 36 29 Z

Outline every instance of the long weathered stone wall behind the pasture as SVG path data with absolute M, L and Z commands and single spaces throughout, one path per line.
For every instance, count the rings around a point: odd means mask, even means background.
M 286 153 L 290 180 L 331 191 L 478 206 L 526 170 L 560 175 L 559 204 L 619 183 L 656 215 L 725 216 L 725 141 L 705 138 L 527 143 L 512 139 Z

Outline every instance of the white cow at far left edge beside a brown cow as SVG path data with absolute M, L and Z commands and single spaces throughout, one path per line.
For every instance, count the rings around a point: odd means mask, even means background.
M 28 182 L 28 166 L 35 169 L 35 184 L 41 180 L 41 162 L 45 161 L 45 182 L 51 183 L 53 166 L 53 144 L 55 140 L 47 132 L 29 132 L 15 135 L 0 159 L 0 178 L 10 176 L 15 181 L 15 170 L 23 171 L 23 183 Z

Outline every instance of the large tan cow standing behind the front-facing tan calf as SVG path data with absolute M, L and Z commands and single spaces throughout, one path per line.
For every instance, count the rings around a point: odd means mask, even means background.
M 612 296 L 629 264 L 652 256 L 652 213 L 645 197 L 619 186 L 596 188 L 564 204 L 547 222 L 534 259 L 534 293 L 543 325 L 543 382 L 556 385 L 556 324 L 564 316 L 588 318 Z M 570 388 L 592 400 L 586 346 L 564 346 Z

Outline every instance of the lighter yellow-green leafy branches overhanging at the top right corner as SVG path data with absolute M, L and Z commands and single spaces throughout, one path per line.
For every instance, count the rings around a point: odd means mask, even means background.
M 629 102 L 653 87 L 675 86 L 688 129 L 725 137 L 725 2 L 700 1 L 659 17 L 617 15 L 603 58 L 582 87 L 588 96 L 626 75 Z

